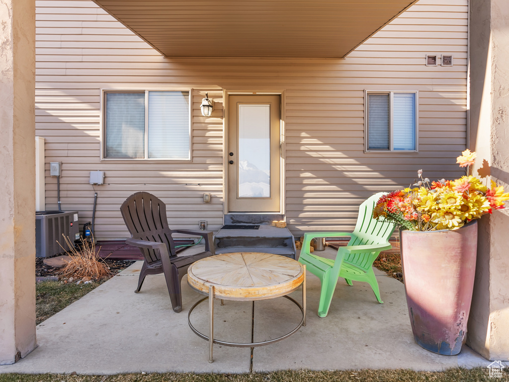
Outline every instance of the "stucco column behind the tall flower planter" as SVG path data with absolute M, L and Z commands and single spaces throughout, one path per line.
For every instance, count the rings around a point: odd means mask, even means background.
M 509 192 L 509 2 L 470 0 L 470 149 Z M 483 170 L 482 170 L 483 172 Z M 480 220 L 467 344 L 509 359 L 509 212 Z

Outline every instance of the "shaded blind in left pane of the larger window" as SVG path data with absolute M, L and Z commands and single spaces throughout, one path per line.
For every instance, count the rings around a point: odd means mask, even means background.
M 106 93 L 105 157 L 143 158 L 145 93 Z

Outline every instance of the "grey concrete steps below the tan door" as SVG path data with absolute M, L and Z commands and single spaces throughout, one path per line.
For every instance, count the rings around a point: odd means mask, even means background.
M 214 236 L 214 243 L 217 254 L 262 252 L 295 258 L 296 253 L 292 233 L 270 225 L 260 225 L 256 230 L 221 229 Z

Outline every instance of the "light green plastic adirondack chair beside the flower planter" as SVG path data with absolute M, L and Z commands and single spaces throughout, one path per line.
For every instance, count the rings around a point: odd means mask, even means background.
M 306 265 L 306 269 L 317 276 L 321 283 L 320 304 L 318 315 L 325 317 L 329 312 L 332 294 L 337 279 L 342 277 L 349 285 L 352 281 L 363 281 L 371 285 L 380 304 L 378 282 L 373 272 L 373 262 L 381 251 L 391 248 L 389 238 L 394 232 L 393 223 L 381 222 L 373 219 L 373 208 L 384 193 L 373 195 L 364 201 L 359 208 L 357 224 L 352 233 L 348 232 L 311 232 L 304 234 L 299 262 Z M 340 247 L 336 259 L 326 259 L 310 253 L 309 245 L 313 238 L 350 236 L 346 247 Z

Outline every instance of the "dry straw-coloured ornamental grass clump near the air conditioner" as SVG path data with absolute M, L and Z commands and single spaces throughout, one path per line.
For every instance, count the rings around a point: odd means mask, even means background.
M 71 248 L 71 252 L 67 252 L 71 260 L 62 270 L 57 272 L 59 275 L 68 278 L 90 277 L 91 279 L 100 280 L 111 274 L 108 266 L 99 261 L 101 259 L 96 255 L 94 238 L 92 238 L 92 241 L 81 238 L 80 251 L 74 248 L 68 237 L 64 236 L 64 239 Z M 61 244 L 59 243 L 59 245 Z

